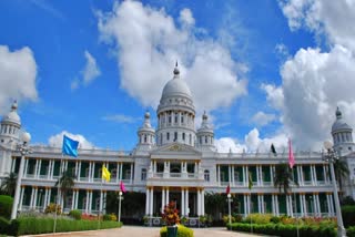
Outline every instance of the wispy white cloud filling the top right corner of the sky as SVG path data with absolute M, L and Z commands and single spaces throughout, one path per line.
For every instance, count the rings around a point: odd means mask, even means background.
M 292 30 L 306 28 L 325 34 L 332 44 L 355 50 L 355 2 L 353 0 L 280 0 Z

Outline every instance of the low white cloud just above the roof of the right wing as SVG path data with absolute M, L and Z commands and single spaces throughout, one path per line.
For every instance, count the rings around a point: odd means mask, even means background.
M 214 144 L 219 152 L 227 153 L 230 150 L 233 153 L 242 152 L 270 152 L 271 144 L 274 144 L 277 152 L 284 151 L 287 147 L 287 136 L 284 133 L 278 133 L 271 137 L 261 138 L 257 128 L 253 128 L 245 136 L 243 142 L 239 142 L 232 137 L 216 138 Z

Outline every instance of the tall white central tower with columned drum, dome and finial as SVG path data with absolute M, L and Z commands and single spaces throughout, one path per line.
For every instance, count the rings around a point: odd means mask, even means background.
M 187 84 L 180 79 L 178 62 L 173 79 L 163 89 L 156 116 L 158 146 L 174 142 L 194 146 L 196 136 L 195 107 Z

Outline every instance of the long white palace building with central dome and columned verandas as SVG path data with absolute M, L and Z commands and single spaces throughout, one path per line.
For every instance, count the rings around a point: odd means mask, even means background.
M 11 172 L 18 173 L 22 157 L 17 148 L 21 143 L 17 109 L 13 103 L 1 120 L 0 182 Z M 77 179 L 73 192 L 67 196 L 64 210 L 98 214 L 105 204 L 106 193 L 116 192 L 122 181 L 129 192 L 145 194 L 142 206 L 145 205 L 146 216 L 156 216 L 169 200 L 176 200 L 182 216 L 205 215 L 206 193 L 225 193 L 227 185 L 239 199 L 242 215 L 252 212 L 335 216 L 328 163 L 321 153 L 294 153 L 293 172 L 298 185 L 292 185 L 290 195 L 281 193 L 274 186 L 275 166 L 286 163 L 288 154 L 217 152 L 207 115 L 203 115 L 202 124 L 195 128 L 192 93 L 178 68 L 163 89 L 156 116 L 154 128 L 150 114 L 144 114 L 144 123 L 138 130 L 138 144 L 131 152 L 79 150 L 79 156 L 72 158 L 62 156 L 61 148 L 30 146 L 32 152 L 23 156 L 19 210 L 43 210 L 55 203 L 54 184 L 63 171 L 72 169 Z M 347 154 L 342 158 L 347 163 L 349 175 L 342 182 L 341 194 L 355 198 L 353 128 L 344 122 L 339 110 L 329 132 L 334 148 Z M 102 165 L 112 174 L 108 183 L 102 183 Z M 248 189 L 248 173 L 252 189 Z

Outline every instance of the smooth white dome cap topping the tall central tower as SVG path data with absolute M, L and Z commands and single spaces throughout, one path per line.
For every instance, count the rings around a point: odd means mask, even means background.
M 173 95 L 185 95 L 190 99 L 192 97 L 191 91 L 187 84 L 182 79 L 180 79 L 179 74 L 180 72 L 178 68 L 175 68 L 174 78 L 165 84 L 163 89 L 162 97 L 168 97 Z

